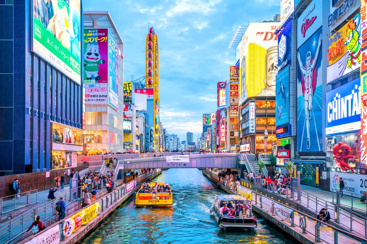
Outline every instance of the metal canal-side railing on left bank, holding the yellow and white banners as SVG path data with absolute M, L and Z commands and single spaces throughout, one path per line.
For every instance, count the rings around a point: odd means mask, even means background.
M 143 174 L 143 175 L 139 176 L 137 179 L 131 181 L 131 182 L 134 182 L 134 187 L 132 189 L 130 189 L 130 191 L 127 191 L 128 185 L 127 184 L 126 185 L 123 184 L 122 186 L 114 189 L 112 192 L 110 192 L 110 193 L 108 193 L 106 195 L 103 195 L 103 196 L 97 198 L 96 199 L 96 202 L 98 202 L 98 203 L 101 204 L 101 210 L 100 210 L 100 212 L 106 211 L 109 206 L 112 206 L 112 204 L 114 204 L 116 202 L 119 202 L 120 199 L 124 198 L 131 191 L 135 191 L 135 189 L 137 189 L 140 186 L 140 183 L 142 183 L 142 182 L 150 179 L 151 177 L 155 176 L 160 171 L 161 171 L 161 169 L 152 170 L 152 171 L 150 171 L 150 172 L 148 172 L 146 174 Z M 80 211 L 80 210 L 78 210 L 78 211 Z M 69 214 L 68 216 L 65 216 L 64 219 L 68 219 L 73 214 L 75 214 L 75 213 L 72 213 L 72 214 Z M 54 224 L 48 226 L 47 229 L 50 229 L 50 228 L 52 228 L 54 226 L 57 226 L 59 224 L 62 224 L 63 222 L 64 222 L 64 220 L 56 221 Z M 18 243 L 19 244 L 26 243 L 26 242 L 32 240 L 34 237 L 40 235 L 44 231 L 46 231 L 46 230 L 43 230 L 43 231 L 41 231 L 41 232 L 39 232 L 39 233 L 37 233 L 35 235 L 29 236 L 26 239 L 24 239 L 22 241 L 19 241 Z M 63 237 L 62 237 L 61 234 L 60 234 L 60 240 L 63 240 Z

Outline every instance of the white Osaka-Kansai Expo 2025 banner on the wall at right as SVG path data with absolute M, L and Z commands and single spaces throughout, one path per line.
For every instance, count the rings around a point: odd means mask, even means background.
M 344 180 L 344 195 L 350 196 L 349 192 L 364 195 L 367 191 L 367 175 L 366 174 L 350 174 L 341 172 L 330 172 L 330 191 L 339 190 L 340 178 Z

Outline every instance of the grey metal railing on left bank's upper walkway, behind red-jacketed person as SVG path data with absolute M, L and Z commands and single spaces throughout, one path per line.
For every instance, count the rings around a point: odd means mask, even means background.
M 96 187 L 97 191 L 105 188 L 105 183 L 107 179 L 99 180 L 97 183 L 91 183 L 86 185 L 85 187 L 89 189 Z M 119 186 L 122 184 L 122 181 L 115 181 L 115 186 Z M 80 199 L 82 195 L 83 187 L 77 187 L 74 189 L 70 189 L 69 191 L 59 195 L 57 198 L 50 200 L 47 203 L 38 205 L 29 209 L 6 222 L 0 223 L 0 243 L 8 243 L 11 240 L 14 240 L 32 224 L 36 216 L 40 216 L 44 221 L 47 218 L 50 218 L 54 215 L 55 204 L 59 201 L 61 197 L 64 198 L 66 206 L 70 203 L 75 202 Z

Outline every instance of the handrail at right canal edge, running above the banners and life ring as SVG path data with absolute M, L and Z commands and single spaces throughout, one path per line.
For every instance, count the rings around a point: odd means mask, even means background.
M 205 171 L 206 171 L 206 173 L 208 173 L 208 174 L 210 174 L 210 177 L 213 179 L 213 180 L 216 180 L 216 179 L 214 179 L 215 177 L 217 177 L 218 179 L 221 179 L 223 182 L 225 182 L 226 181 L 226 179 L 225 178 L 223 178 L 223 177 L 219 177 L 218 176 L 218 174 L 215 174 L 215 173 L 212 173 L 212 172 L 210 172 L 210 170 L 208 170 L 208 169 L 205 169 Z M 214 175 L 214 177 L 213 177 L 213 175 Z M 216 180 L 217 182 L 219 182 L 219 180 Z M 246 187 L 244 187 L 244 186 L 242 186 L 242 185 L 240 185 L 240 184 L 236 184 L 235 182 L 232 182 L 233 184 L 235 184 L 236 186 L 237 186 L 237 188 L 238 187 L 241 187 L 241 188 L 246 188 Z M 224 185 L 225 186 L 225 185 Z M 225 186 L 226 187 L 226 186 Z M 229 188 L 230 189 L 230 188 Z M 251 193 L 252 194 L 256 194 L 256 195 L 260 195 L 261 197 L 264 197 L 264 198 L 267 198 L 267 199 L 269 199 L 269 200 L 272 200 L 272 201 L 274 201 L 274 199 L 271 199 L 270 197 L 268 197 L 268 196 L 266 196 L 266 195 L 263 195 L 263 194 L 261 194 L 261 193 L 259 193 L 259 192 L 255 192 L 254 190 L 252 190 L 252 189 L 249 189 L 249 188 L 246 188 L 248 191 L 251 191 Z M 255 201 L 254 201 L 254 199 L 252 198 L 252 202 L 255 202 L 255 204 L 257 205 L 258 203 L 257 203 L 257 197 L 255 198 Z M 323 222 L 323 221 L 320 221 L 319 219 L 316 219 L 316 218 L 314 218 L 314 217 L 312 217 L 312 216 L 310 216 L 310 215 L 308 215 L 308 214 L 305 214 L 305 213 L 302 213 L 301 211 L 299 211 L 299 210 L 297 210 L 297 209 L 294 209 L 294 208 L 292 208 L 292 207 L 290 207 L 290 206 L 288 206 L 288 205 L 286 205 L 286 204 L 283 204 L 283 203 L 281 203 L 281 202 L 277 202 L 278 204 L 280 204 L 280 205 L 282 205 L 283 207 L 287 207 L 288 209 L 291 209 L 291 210 L 293 210 L 293 211 L 295 211 L 295 212 L 297 212 L 297 213 L 299 213 L 299 214 L 301 214 L 301 215 L 304 215 L 304 216 L 306 216 L 307 218 L 310 218 L 310 219 L 312 219 L 313 221 L 316 221 L 318 224 L 316 225 L 316 226 L 320 226 L 320 224 L 324 224 L 324 225 L 327 225 L 328 227 L 330 227 L 331 229 L 334 229 L 334 230 L 336 230 L 336 231 L 338 231 L 338 232 L 341 232 L 341 233 L 344 233 L 344 234 L 346 234 L 346 235 L 348 235 L 348 236 L 352 236 L 352 237 L 354 237 L 354 238 L 356 238 L 357 240 L 360 240 L 360 241 L 367 241 L 367 239 L 366 238 L 364 238 L 364 237 L 360 237 L 360 236 L 357 236 L 356 234 L 353 234 L 353 233 L 350 233 L 350 232 L 347 232 L 347 231 L 345 231 L 345 230 L 342 230 L 342 229 L 339 229 L 339 228 L 337 228 L 337 227 L 335 227 L 335 226 L 333 226 L 333 225 L 330 225 L 330 224 L 328 224 L 328 223 L 326 223 L 326 222 Z M 317 232 L 317 231 L 316 231 Z M 311 232 L 309 232 L 310 234 L 313 234 L 313 233 L 311 233 Z M 315 237 L 316 237 L 316 233 L 315 233 L 315 235 L 314 235 Z M 338 236 L 338 235 L 334 235 L 334 236 Z M 325 240 L 323 240 L 324 242 L 326 242 L 327 243 L 327 241 L 325 241 Z

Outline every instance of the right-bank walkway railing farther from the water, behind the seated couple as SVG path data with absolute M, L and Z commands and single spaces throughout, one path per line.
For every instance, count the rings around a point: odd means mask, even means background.
M 254 180 L 256 180 L 258 177 L 255 177 Z M 261 179 L 261 185 L 262 185 L 262 179 Z M 357 224 L 360 224 L 363 226 L 363 228 L 365 229 L 364 232 L 364 237 L 367 238 L 367 218 L 355 213 L 354 211 L 352 211 L 351 209 L 346 209 L 345 206 L 341 206 L 337 203 L 332 203 L 329 202 L 327 200 L 324 200 L 318 196 L 315 196 L 313 194 L 310 194 L 309 192 L 303 191 L 301 188 L 297 188 L 297 187 L 292 187 L 289 185 L 284 185 L 281 183 L 278 183 L 280 186 L 284 187 L 286 189 L 286 195 L 281 195 L 279 194 L 279 196 L 283 196 L 286 198 L 290 198 L 293 199 L 297 202 L 299 202 L 301 205 L 303 205 L 304 207 L 307 207 L 308 209 L 311 209 L 312 211 L 314 211 L 315 213 L 318 213 L 322 207 L 326 207 L 328 209 L 330 209 L 330 211 L 334 211 L 334 222 L 336 222 L 339 225 L 344 226 L 346 229 L 349 229 L 350 231 L 353 231 L 355 228 L 353 228 L 353 224 L 354 226 L 356 226 Z M 264 191 L 270 191 L 273 194 L 277 194 L 277 192 L 274 191 L 275 189 L 275 183 L 272 182 L 271 187 L 268 186 L 268 182 L 266 182 L 266 188 L 264 189 Z M 290 191 L 290 194 L 288 193 Z M 295 196 L 295 192 L 297 192 L 297 197 Z M 315 203 L 316 204 L 316 208 L 314 208 L 312 206 L 312 204 L 310 203 Z M 318 208 L 318 206 L 321 206 Z M 337 213 L 337 214 L 335 214 Z M 331 214 L 331 216 L 333 216 Z M 344 219 L 343 219 L 344 218 Z M 333 218 L 332 218 L 333 219 Z M 361 233 L 359 233 L 361 234 Z

